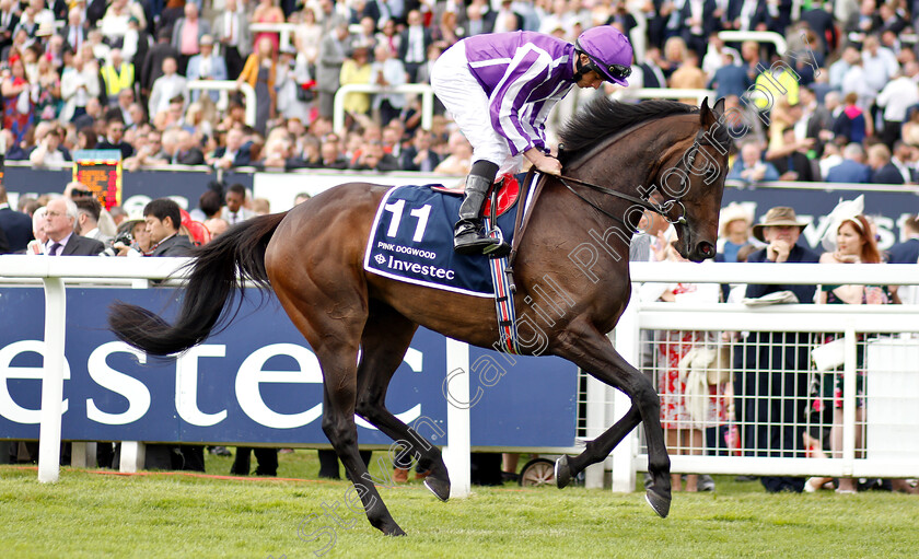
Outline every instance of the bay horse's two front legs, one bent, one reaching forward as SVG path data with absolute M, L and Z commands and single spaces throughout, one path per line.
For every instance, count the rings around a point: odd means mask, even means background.
M 648 376 L 623 359 L 609 340 L 596 329 L 579 328 L 574 325 L 569 328 L 575 330 L 567 337 L 571 340 L 570 343 L 558 348 L 556 353 L 572 361 L 598 381 L 623 391 L 632 400 L 632 407 L 626 416 L 593 441 L 593 445 L 589 445 L 573 462 L 583 469 L 593 464 L 594 462 L 590 461 L 604 451 L 605 454 L 596 462 L 605 458 L 640 419 L 644 422 L 648 473 L 653 481 L 645 492 L 645 499 L 654 512 L 665 517 L 671 505 L 670 456 L 661 428 L 661 400 L 654 385 Z M 561 464 L 559 469 L 563 470 L 563 466 L 565 464 Z M 560 474 L 565 476 L 563 471 Z

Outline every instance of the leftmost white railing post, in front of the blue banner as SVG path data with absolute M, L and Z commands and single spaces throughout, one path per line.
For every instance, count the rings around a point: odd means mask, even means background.
M 45 366 L 42 375 L 42 416 L 38 430 L 38 481 L 54 484 L 60 476 L 67 293 L 61 278 L 44 278 L 44 283 Z

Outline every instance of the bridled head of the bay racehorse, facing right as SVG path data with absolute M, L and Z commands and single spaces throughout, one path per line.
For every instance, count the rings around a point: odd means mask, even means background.
M 678 240 L 674 246 L 680 256 L 696 263 L 714 258 L 731 145 L 726 128 L 720 123 L 723 113 L 723 98 L 712 108 L 708 98 L 702 101 L 694 136 L 679 142 L 658 175 L 665 217 L 676 226 Z

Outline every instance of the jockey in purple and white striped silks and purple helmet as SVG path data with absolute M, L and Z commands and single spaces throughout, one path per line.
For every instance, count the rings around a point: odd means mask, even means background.
M 508 245 L 482 228 L 486 193 L 498 172 L 516 173 L 523 154 L 540 172 L 561 174 L 561 163 L 546 145 L 552 107 L 572 85 L 626 85 L 631 62 L 629 39 L 609 25 L 585 31 L 573 45 L 525 31 L 474 35 L 440 56 L 431 85 L 473 144 L 473 168 L 454 228 L 457 253 L 507 253 Z

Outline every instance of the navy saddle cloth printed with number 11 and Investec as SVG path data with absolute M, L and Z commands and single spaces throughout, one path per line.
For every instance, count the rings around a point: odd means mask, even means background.
M 493 298 L 490 259 L 453 252 L 453 224 L 458 219 L 462 194 L 444 191 L 441 185 L 388 190 L 370 230 L 364 269 L 407 283 Z M 513 211 L 498 218 L 508 243 L 520 206 L 513 203 Z

